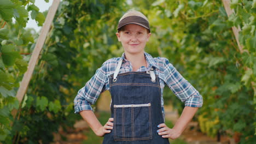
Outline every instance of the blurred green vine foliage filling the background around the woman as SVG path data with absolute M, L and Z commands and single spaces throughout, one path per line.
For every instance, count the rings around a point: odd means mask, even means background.
M 196 130 L 218 139 L 229 136 L 236 143 L 256 141 L 255 0 L 231 1 L 235 13 L 230 17 L 219 0 L 63 0 L 19 105 L 15 95 L 38 38 L 36 31 L 25 29 L 28 15 L 42 26 L 47 14 L 33 3 L 0 3 L 2 143 L 56 142 L 58 133 L 62 142 L 68 141 L 70 137 L 62 132 L 72 132 L 81 119 L 74 114 L 73 99 L 104 61 L 123 53 L 115 32 L 118 20 L 129 9 L 149 19 L 152 37 L 146 52 L 168 58 L 203 96 L 203 107 L 193 119 L 199 123 Z M 239 41 L 244 52 L 238 49 L 232 26 L 241 27 Z M 168 88 L 164 99 L 181 113 L 184 104 Z M 11 115 L 13 109 L 19 109 L 16 118 Z M 108 113 L 101 113 L 97 106 L 94 109 L 104 123 Z M 90 129 L 84 136 L 88 137 L 84 143 L 102 140 Z

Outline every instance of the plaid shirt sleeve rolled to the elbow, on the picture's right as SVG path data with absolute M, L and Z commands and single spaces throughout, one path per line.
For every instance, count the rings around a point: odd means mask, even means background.
M 201 107 L 202 95 L 165 59 L 165 82 L 185 106 Z

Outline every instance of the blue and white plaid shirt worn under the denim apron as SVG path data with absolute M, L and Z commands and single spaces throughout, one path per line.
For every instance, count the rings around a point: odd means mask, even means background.
M 172 90 L 172 92 L 182 101 L 185 102 L 185 106 L 201 107 L 203 100 L 202 96 L 196 89 L 190 85 L 190 83 L 179 74 L 176 68 L 163 57 L 153 58 L 148 53 L 144 52 L 148 67 L 142 66 L 137 71 L 148 71 L 150 68 L 154 68 L 154 72 L 160 78 L 161 87 L 161 104 L 162 112 L 164 115 L 164 99 L 162 93 L 165 84 Z M 125 53 L 122 57 L 111 58 L 102 64 L 102 67 L 97 69 L 96 74 L 85 84 L 83 88 L 78 91 L 77 96 L 74 99 L 75 113 L 79 113 L 83 110 L 92 110 L 91 104 L 95 104 L 99 95 L 109 90 L 108 76 L 114 74 L 120 58 L 123 59 L 123 64 L 119 70 L 119 74 L 132 71 L 131 62 L 125 59 Z

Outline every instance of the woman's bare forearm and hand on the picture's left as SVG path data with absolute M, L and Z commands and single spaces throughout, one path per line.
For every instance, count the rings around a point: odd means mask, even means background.
M 79 113 L 97 136 L 104 136 L 104 134 L 110 133 L 109 129 L 113 129 L 113 118 L 109 118 L 108 122 L 102 126 L 91 110 L 80 111 Z

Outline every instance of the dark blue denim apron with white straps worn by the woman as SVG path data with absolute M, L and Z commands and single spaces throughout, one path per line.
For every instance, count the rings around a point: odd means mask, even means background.
M 123 59 L 114 75 L 109 77 L 112 97 L 113 130 L 104 135 L 103 144 L 167 144 L 168 139 L 156 132 L 164 123 L 161 111 L 159 79 L 153 69 L 144 72 L 118 74 Z

